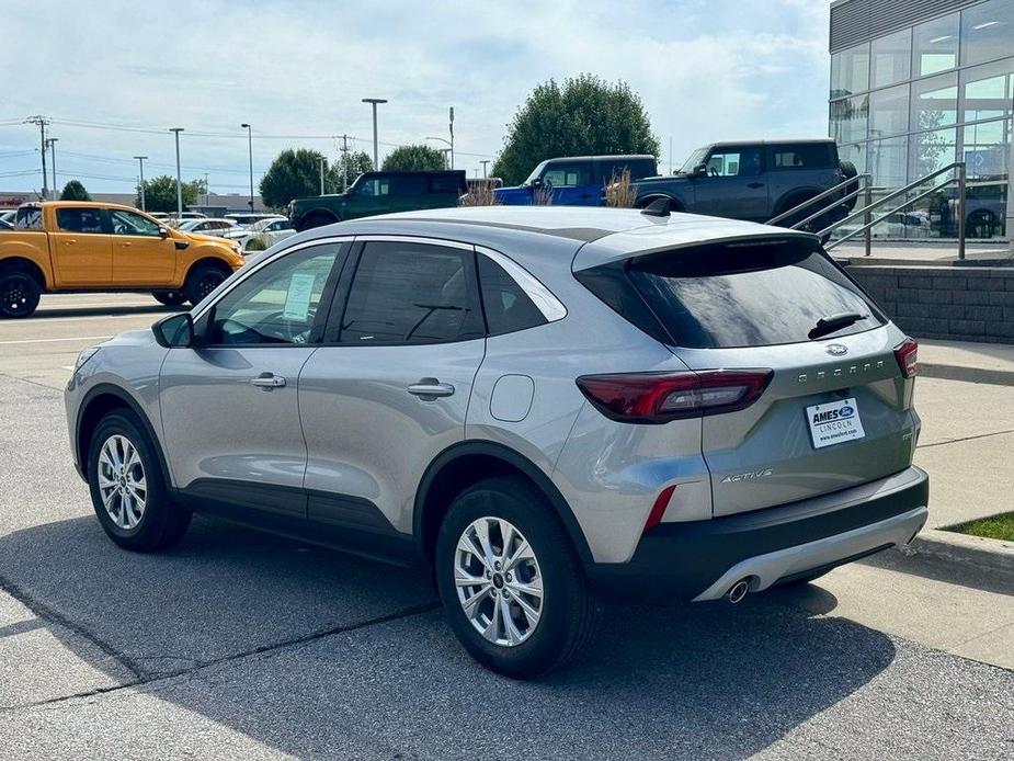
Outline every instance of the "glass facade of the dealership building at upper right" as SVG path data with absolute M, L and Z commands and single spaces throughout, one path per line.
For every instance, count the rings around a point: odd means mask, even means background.
M 831 56 L 830 133 L 842 159 L 885 193 L 964 160 L 971 237 L 1005 234 L 1012 114 L 1014 0 L 985 0 Z M 941 191 L 875 232 L 954 236 L 955 197 Z

